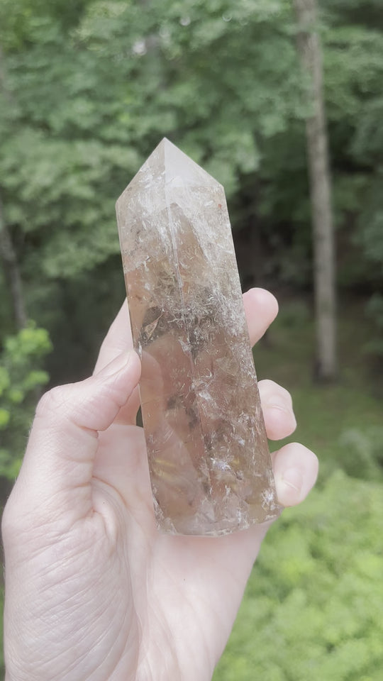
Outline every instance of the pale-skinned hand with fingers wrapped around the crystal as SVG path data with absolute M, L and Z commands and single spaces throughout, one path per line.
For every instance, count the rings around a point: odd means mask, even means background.
M 244 302 L 255 343 L 277 301 L 252 289 Z M 124 304 L 94 375 L 38 405 L 3 517 L 6 681 L 208 681 L 226 645 L 267 526 L 157 531 L 139 378 Z M 269 438 L 290 435 L 289 393 L 261 381 L 260 394 Z M 299 504 L 316 456 L 293 443 L 272 458 L 279 502 Z

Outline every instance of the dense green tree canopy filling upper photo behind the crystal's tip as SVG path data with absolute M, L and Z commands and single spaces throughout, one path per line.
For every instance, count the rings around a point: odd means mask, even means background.
M 339 281 L 372 294 L 383 263 L 383 25 L 377 0 L 321 6 Z M 306 83 L 290 2 L 4 0 L 0 24 L 0 192 L 27 307 L 54 341 L 57 291 L 69 306 L 89 272 L 100 299 L 119 267 L 113 204 L 163 135 L 224 184 L 233 225 L 248 240 L 256 232 L 244 280 L 311 286 Z M 89 308 L 87 346 L 102 326 Z

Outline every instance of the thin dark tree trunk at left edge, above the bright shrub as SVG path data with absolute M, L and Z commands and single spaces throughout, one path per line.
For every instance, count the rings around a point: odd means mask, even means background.
M 23 299 L 23 285 L 21 283 L 20 270 L 18 268 L 18 261 L 13 248 L 11 234 L 6 225 L 3 211 L 3 204 L 0 197 L 0 258 L 4 266 L 6 278 L 9 281 L 9 288 L 11 290 L 11 299 L 13 306 L 13 316 L 15 318 L 17 328 L 26 326 L 27 317 L 26 309 Z

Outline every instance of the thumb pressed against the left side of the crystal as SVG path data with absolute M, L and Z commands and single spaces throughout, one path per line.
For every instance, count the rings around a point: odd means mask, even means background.
M 27 510 L 91 511 L 91 478 L 98 431 L 109 428 L 140 380 L 133 350 L 96 375 L 53 388 L 40 399 L 13 497 Z M 16 501 L 16 499 L 14 499 Z

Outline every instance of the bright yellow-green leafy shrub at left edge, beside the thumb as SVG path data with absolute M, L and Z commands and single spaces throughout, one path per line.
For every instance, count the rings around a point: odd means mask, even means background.
M 48 382 L 43 359 L 52 346 L 48 332 L 30 322 L 4 339 L 0 355 L 0 475 L 13 480 L 23 457 L 40 387 Z

